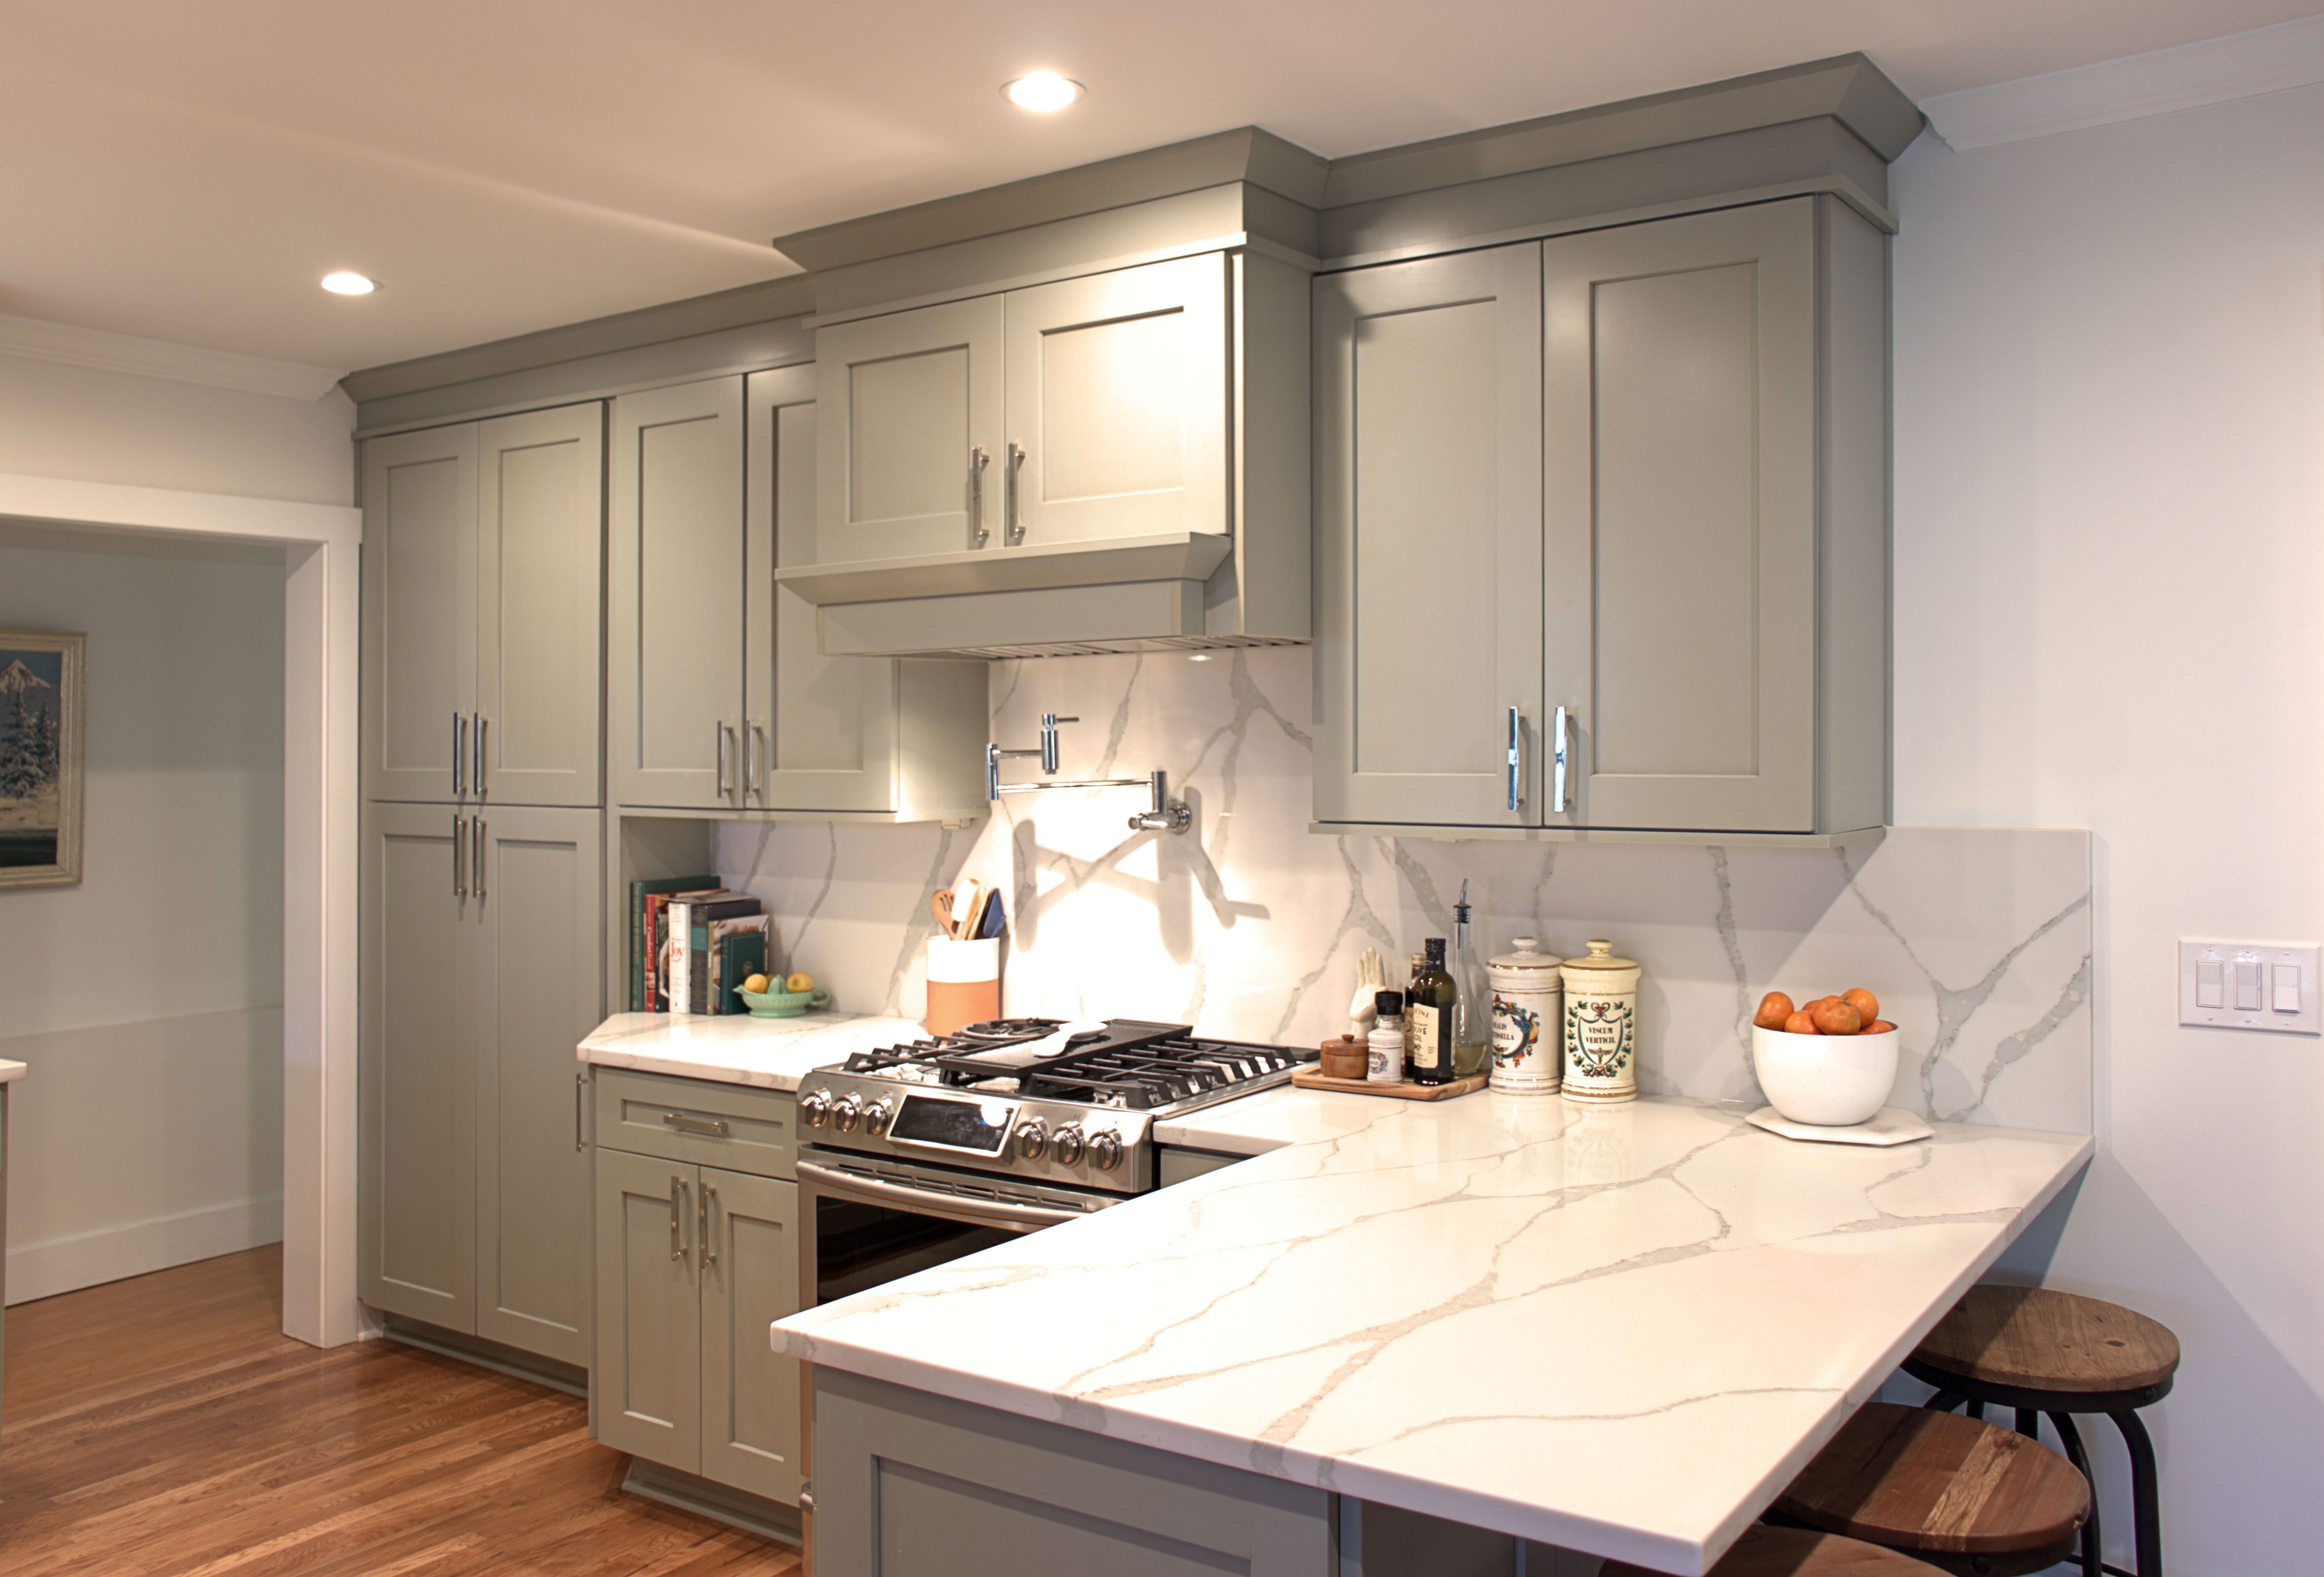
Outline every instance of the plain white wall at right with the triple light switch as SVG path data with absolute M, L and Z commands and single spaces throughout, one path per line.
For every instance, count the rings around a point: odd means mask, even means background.
M 1894 170 L 1896 815 L 2096 829 L 2101 1154 L 2022 1263 L 2180 1333 L 2185 1577 L 2324 1547 L 2324 1045 L 2173 973 L 2324 941 L 2319 146 L 2296 88 Z

